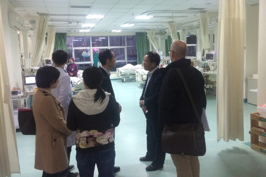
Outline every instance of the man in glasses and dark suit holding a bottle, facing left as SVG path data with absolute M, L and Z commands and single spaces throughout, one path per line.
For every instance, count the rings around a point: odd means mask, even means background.
M 147 81 L 144 85 L 142 95 L 139 100 L 139 106 L 146 106 L 148 112 L 146 117 L 147 134 L 147 153 L 141 157 L 140 161 L 152 161 L 146 167 L 147 171 L 156 171 L 164 167 L 165 152 L 161 149 L 161 128 L 158 127 L 158 95 L 162 85 L 162 75 L 158 65 L 160 64 L 160 55 L 156 52 L 148 52 L 144 56 L 143 66 L 148 70 Z

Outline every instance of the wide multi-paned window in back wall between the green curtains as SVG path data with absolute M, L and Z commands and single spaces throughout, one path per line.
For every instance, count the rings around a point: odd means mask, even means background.
M 125 66 L 128 63 L 137 64 L 136 36 L 88 36 L 67 37 L 68 57 L 75 58 L 79 69 L 85 69 L 93 65 L 95 50 L 109 48 L 114 52 L 116 67 Z M 84 56 L 84 53 L 89 56 Z M 83 54 L 83 55 L 82 55 Z M 116 71 L 112 68 L 111 71 Z

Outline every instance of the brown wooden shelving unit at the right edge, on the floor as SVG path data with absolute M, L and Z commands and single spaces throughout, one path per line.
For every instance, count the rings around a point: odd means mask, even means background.
M 266 155 L 266 117 L 260 113 L 250 114 L 251 149 Z

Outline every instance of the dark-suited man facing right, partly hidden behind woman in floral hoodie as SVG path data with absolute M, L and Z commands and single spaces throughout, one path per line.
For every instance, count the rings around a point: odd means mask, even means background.
M 110 80 L 110 70 L 115 67 L 115 58 L 114 53 L 110 49 L 102 49 L 99 53 L 99 61 L 101 62 L 102 66 L 99 67 L 99 69 L 102 71 L 102 89 L 108 93 L 111 93 L 111 95 L 114 96 L 114 90 L 113 86 Z M 117 102 L 116 102 L 117 103 Z M 121 112 L 122 107 L 119 103 L 117 103 L 118 111 Z M 120 171 L 120 167 L 114 167 L 114 173 Z

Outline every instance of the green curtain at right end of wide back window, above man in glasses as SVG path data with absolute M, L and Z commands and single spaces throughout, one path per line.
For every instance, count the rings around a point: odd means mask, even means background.
M 142 64 L 144 54 L 150 51 L 150 42 L 146 32 L 136 33 L 138 64 Z

